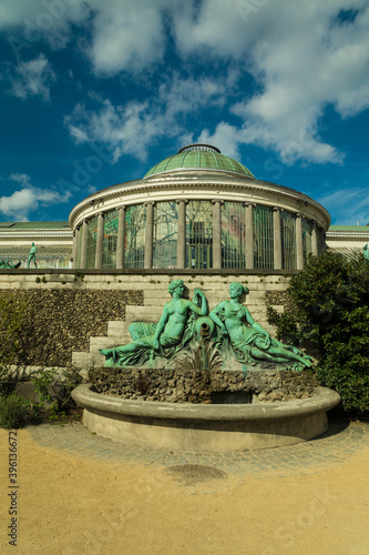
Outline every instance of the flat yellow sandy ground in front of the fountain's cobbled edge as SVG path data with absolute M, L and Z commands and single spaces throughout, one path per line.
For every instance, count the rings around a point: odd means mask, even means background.
M 13 547 L 0 430 L 0 553 L 369 554 L 368 447 L 315 474 L 184 487 L 157 467 L 83 460 L 18 434 Z

